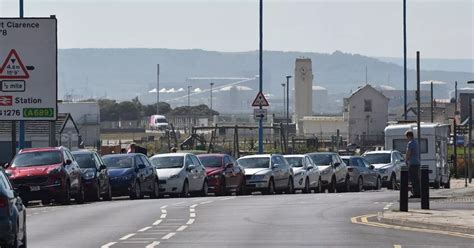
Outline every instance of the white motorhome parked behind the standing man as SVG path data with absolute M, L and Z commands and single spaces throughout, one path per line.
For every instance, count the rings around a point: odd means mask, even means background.
M 421 165 L 429 166 L 430 185 L 434 188 L 450 187 L 448 165 L 449 125 L 421 123 Z M 385 149 L 393 149 L 405 154 L 407 139 L 405 132 L 411 130 L 418 137 L 416 123 L 395 124 L 385 128 Z

